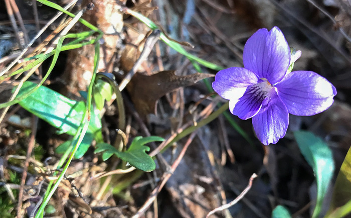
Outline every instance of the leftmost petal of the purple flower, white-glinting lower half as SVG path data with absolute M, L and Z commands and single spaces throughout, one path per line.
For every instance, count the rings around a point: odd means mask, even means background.
M 216 74 L 212 87 L 221 97 L 237 100 L 243 96 L 247 86 L 256 84 L 258 80 L 250 70 L 231 67 Z

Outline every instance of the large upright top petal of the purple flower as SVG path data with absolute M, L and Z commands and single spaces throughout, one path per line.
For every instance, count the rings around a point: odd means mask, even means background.
M 290 63 L 290 48 L 280 29 L 259 29 L 254 33 L 245 44 L 243 62 L 245 68 L 272 85 L 279 82 Z

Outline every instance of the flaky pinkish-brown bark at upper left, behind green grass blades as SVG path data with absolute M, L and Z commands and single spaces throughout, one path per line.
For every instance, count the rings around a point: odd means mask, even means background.
M 93 3 L 94 8 L 83 15 L 83 19 L 99 28 L 103 33 L 98 72 L 112 72 L 114 57 L 119 52 L 119 33 L 123 27 L 122 14 L 115 0 L 84 0 L 82 6 Z M 78 30 L 86 30 L 80 24 Z M 66 81 L 63 93 L 69 97 L 79 96 L 86 90 L 94 67 L 94 45 L 71 50 L 62 80 Z

